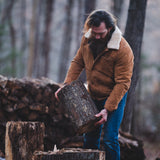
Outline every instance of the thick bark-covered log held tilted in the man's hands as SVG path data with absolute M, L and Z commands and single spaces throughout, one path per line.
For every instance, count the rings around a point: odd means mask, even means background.
M 58 97 L 77 134 L 95 129 L 94 124 L 100 119 L 95 117 L 98 109 L 81 81 L 63 87 Z

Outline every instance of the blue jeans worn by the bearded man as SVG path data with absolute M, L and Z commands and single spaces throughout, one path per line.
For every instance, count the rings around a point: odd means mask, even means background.
M 106 152 L 106 160 L 120 160 L 120 146 L 118 132 L 122 122 L 127 93 L 120 101 L 117 110 L 108 112 L 107 122 L 96 130 L 84 134 L 84 148 L 99 149 L 102 128 L 104 130 L 103 143 Z M 103 109 L 105 101 L 95 101 L 99 111 Z

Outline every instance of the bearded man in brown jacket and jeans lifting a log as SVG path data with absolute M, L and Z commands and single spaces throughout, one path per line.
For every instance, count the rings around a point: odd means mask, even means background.
M 106 160 L 120 160 L 118 131 L 123 118 L 134 56 L 112 14 L 93 11 L 84 24 L 80 48 L 71 62 L 65 85 L 86 70 L 88 92 L 102 117 L 92 132 L 84 134 L 84 148 L 99 149 L 103 127 Z M 60 89 L 59 89 L 60 90 Z M 57 93 L 55 93 L 56 98 Z

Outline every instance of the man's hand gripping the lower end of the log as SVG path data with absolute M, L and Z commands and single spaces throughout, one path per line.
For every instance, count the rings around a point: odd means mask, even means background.
M 104 124 L 107 121 L 108 112 L 106 109 L 102 109 L 98 114 L 95 115 L 96 117 L 102 117 L 95 125 Z

